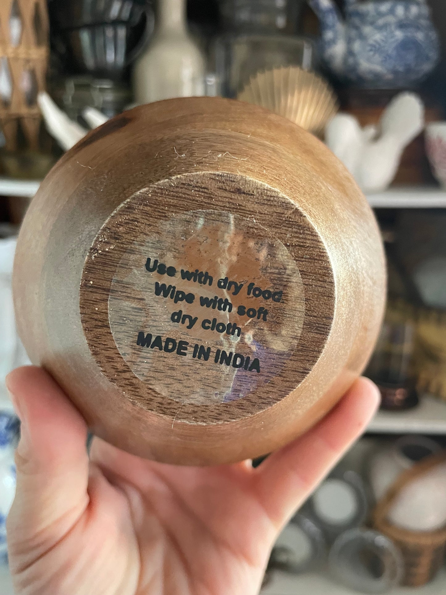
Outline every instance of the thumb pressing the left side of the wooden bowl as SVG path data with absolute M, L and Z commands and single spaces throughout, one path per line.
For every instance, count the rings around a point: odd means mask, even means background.
M 17 491 L 7 522 L 17 568 L 51 549 L 85 511 L 89 461 L 86 424 L 47 372 L 18 368 L 6 384 L 21 421 Z

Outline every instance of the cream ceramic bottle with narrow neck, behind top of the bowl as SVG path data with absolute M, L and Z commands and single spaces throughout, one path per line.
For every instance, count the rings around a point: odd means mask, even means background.
M 135 101 L 204 95 L 205 73 L 205 56 L 187 30 L 186 0 L 159 0 L 152 42 L 134 65 Z

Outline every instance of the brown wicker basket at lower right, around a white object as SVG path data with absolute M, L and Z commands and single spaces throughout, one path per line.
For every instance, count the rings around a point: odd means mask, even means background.
M 446 549 L 446 527 L 426 533 L 408 531 L 391 525 L 387 521 L 387 516 L 395 497 L 404 486 L 409 484 L 415 477 L 425 474 L 445 461 L 446 452 L 442 452 L 439 455 L 424 459 L 404 472 L 398 477 L 384 498 L 378 502 L 373 512 L 373 525 L 376 530 L 390 537 L 403 554 L 405 574 L 402 584 L 409 587 L 420 587 L 428 583 L 441 568 Z

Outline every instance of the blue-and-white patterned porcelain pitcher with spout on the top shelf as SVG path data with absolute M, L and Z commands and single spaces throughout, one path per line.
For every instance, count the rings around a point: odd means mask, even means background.
M 360 87 L 409 87 L 439 58 L 426 0 L 309 0 L 321 21 L 322 58 L 340 79 Z

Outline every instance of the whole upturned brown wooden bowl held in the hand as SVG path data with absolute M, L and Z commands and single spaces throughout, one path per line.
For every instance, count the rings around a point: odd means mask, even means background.
M 92 431 L 157 461 L 252 458 L 368 361 L 378 227 L 346 168 L 266 109 L 173 99 L 90 132 L 21 228 L 18 330 Z

